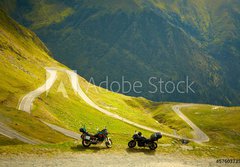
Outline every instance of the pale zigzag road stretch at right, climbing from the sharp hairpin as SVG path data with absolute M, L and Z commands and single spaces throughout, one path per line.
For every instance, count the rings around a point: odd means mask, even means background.
M 180 104 L 172 106 L 173 111 L 176 112 L 176 114 L 182 118 L 191 128 L 194 130 L 194 133 L 196 135 L 195 141 L 198 142 L 208 142 L 209 137 L 197 126 L 195 125 L 191 120 L 189 120 L 181 111 L 180 109 L 183 107 L 192 107 L 194 104 Z

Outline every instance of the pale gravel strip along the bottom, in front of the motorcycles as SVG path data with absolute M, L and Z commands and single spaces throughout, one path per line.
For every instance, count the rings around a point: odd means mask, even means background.
M 208 167 L 217 166 L 214 159 L 190 159 L 143 153 L 123 154 L 64 154 L 56 156 L 0 157 L 0 166 L 68 166 L 68 167 Z

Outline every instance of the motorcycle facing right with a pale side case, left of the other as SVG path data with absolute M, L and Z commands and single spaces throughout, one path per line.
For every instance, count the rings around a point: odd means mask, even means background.
M 103 129 L 101 131 L 98 131 L 97 134 L 92 135 L 86 131 L 86 128 L 80 128 L 80 132 L 82 132 L 81 138 L 82 138 L 82 145 L 84 147 L 89 147 L 91 144 L 102 144 L 105 141 L 105 145 L 107 148 L 112 147 L 112 140 L 108 137 L 108 131 L 107 129 Z

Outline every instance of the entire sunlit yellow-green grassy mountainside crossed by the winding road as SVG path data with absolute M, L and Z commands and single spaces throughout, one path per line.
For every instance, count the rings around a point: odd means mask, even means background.
M 136 124 L 172 135 L 178 134 L 184 138 L 193 138 L 196 135 L 193 129 L 173 111 L 173 106 L 181 104 L 156 103 L 144 98 L 110 92 L 77 76 L 83 94 L 98 108 L 108 110 L 110 115 L 117 114 L 122 119 L 115 119 L 92 107 L 73 90 L 72 83 L 64 72 L 70 69 L 49 55 L 49 50 L 35 33 L 21 26 L 2 10 L 0 10 L 0 56 L 1 156 L 6 154 L 8 156 L 11 153 L 39 156 L 46 153 L 110 154 L 124 151 L 148 154 L 148 150 L 145 149 L 126 149 L 135 130 L 141 131 L 146 137 L 151 135 L 149 131 L 137 127 Z M 18 110 L 25 95 L 36 89 L 39 90 L 46 79 L 50 78 L 46 74 L 46 67 L 60 69 L 53 86 L 47 94 L 42 93 L 33 99 L 30 113 Z M 179 140 L 164 135 L 158 142 L 161 144 L 161 149 L 154 154 L 157 156 L 158 153 L 161 155 L 179 153 L 190 154 L 191 157 L 196 155 L 237 158 L 240 152 L 239 110 L 239 107 L 190 104 L 189 107 L 184 108 L 183 113 L 209 136 L 210 141 L 204 144 L 190 142 L 188 146 L 183 146 Z M 126 119 L 133 124 L 123 121 Z M 79 127 L 84 125 L 92 133 L 95 133 L 97 128 L 107 126 L 114 147 L 110 150 L 101 146 L 83 148 L 79 146 L 79 141 L 59 133 L 46 125 L 46 122 L 71 130 L 75 134 L 79 131 Z M 29 145 L 6 135 L 11 131 L 14 135 L 27 137 L 39 144 Z M 77 135 L 80 136 L 78 133 Z

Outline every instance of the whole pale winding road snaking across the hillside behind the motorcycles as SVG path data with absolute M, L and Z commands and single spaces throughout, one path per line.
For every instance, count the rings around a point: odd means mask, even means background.
M 22 110 L 22 111 L 25 111 L 25 112 L 28 112 L 30 113 L 31 112 L 31 106 L 32 106 L 32 103 L 34 101 L 34 99 L 36 97 L 38 97 L 40 94 L 44 93 L 45 91 L 48 91 L 51 86 L 53 85 L 53 83 L 55 82 L 56 80 L 56 77 L 57 77 L 57 71 L 61 71 L 61 72 L 65 72 L 68 74 L 68 77 L 71 81 L 71 84 L 72 84 L 72 88 L 73 90 L 88 104 L 90 105 L 91 107 L 95 108 L 96 110 L 102 112 L 103 114 L 106 114 L 112 118 L 115 118 L 115 119 L 118 119 L 120 121 L 123 121 L 125 123 L 128 123 L 130 125 L 133 125 L 135 127 L 138 127 L 138 128 L 141 128 L 141 129 L 144 129 L 144 130 L 147 130 L 147 131 L 151 131 L 151 132 L 157 132 L 159 130 L 157 129 L 153 129 L 153 128 L 150 128 L 150 127 L 147 127 L 147 126 L 144 126 L 144 125 L 140 125 L 138 123 L 135 123 L 135 122 L 132 122 L 126 118 L 123 118 L 117 114 L 114 114 L 106 109 L 103 109 L 101 107 L 99 107 L 97 104 L 95 104 L 84 92 L 83 90 L 81 89 L 80 85 L 79 85 L 79 82 L 78 82 L 78 75 L 77 73 L 73 72 L 73 71 L 70 71 L 70 70 L 67 70 L 67 69 L 63 69 L 63 68 L 46 68 L 46 71 L 50 74 L 50 77 L 48 78 L 48 80 L 46 81 L 46 83 L 44 85 L 42 85 L 41 87 L 39 87 L 38 89 L 36 89 L 35 91 L 32 91 L 30 93 L 28 93 L 27 95 L 25 95 L 19 106 L 18 106 L 18 109 L 19 110 Z M 178 114 L 184 121 L 186 121 L 192 128 L 193 130 L 195 131 L 195 134 L 196 134 L 196 138 L 194 139 L 189 139 L 189 138 L 184 138 L 184 139 L 187 139 L 187 140 L 190 140 L 190 141 L 194 141 L 194 142 L 198 142 L 198 143 L 201 143 L 201 142 L 206 142 L 208 141 L 208 137 L 206 138 L 206 134 L 203 133 L 195 124 L 193 124 L 186 116 L 184 116 L 181 111 L 179 110 L 179 108 L 183 107 L 182 105 L 176 105 L 176 106 L 173 106 L 173 110 L 176 112 L 176 114 Z M 56 125 L 52 125 L 52 124 L 48 124 L 46 122 L 44 122 L 46 125 L 48 125 L 49 127 L 51 127 L 52 129 L 54 130 L 57 130 L 63 134 L 65 134 L 66 136 L 69 136 L 69 137 L 72 137 L 72 138 L 76 138 L 76 134 L 74 134 L 75 132 L 73 133 L 69 133 L 70 131 L 66 132 L 63 128 L 61 127 L 58 127 Z M 177 139 L 183 139 L 183 137 L 181 136 L 178 136 L 178 135 L 173 135 L 173 134 L 169 134 L 169 133 L 164 133 L 164 132 L 161 132 L 163 135 L 165 136 L 168 136 L 168 137 L 172 137 L 172 138 L 177 138 Z

